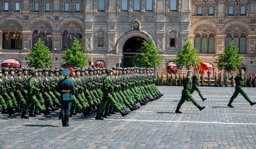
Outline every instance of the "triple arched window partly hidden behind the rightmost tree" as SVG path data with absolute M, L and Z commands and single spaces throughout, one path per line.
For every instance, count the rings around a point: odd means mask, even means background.
M 227 34 L 226 35 L 226 43 L 225 43 L 226 48 L 228 48 L 228 45 L 230 44 L 230 42 L 232 40 L 233 40 L 233 45 L 238 48 L 238 53 L 246 53 L 247 39 L 246 39 L 245 34 L 241 34 L 240 37 L 238 34 L 234 34 L 233 38 L 232 38 L 231 34 Z

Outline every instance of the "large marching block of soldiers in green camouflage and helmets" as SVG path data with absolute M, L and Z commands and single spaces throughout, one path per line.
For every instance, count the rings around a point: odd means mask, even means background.
M 74 73 L 69 79 L 74 81 L 75 95 L 70 115 L 83 113 L 86 116 L 97 111 L 96 120 L 103 120 L 102 117 L 107 118 L 115 112 L 125 116 L 163 96 L 155 86 L 157 75 L 153 68 L 71 69 Z M 29 117 L 59 110 L 60 93 L 56 86 L 59 80 L 64 79 L 62 70 L 33 67 L 0 69 L 1 113 L 12 115 L 22 112 L 21 118 L 28 118 L 25 115 L 28 110 Z

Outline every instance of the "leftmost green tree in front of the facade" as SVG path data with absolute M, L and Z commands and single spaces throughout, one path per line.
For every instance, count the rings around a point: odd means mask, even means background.
M 44 45 L 44 41 L 38 38 L 33 49 L 27 52 L 27 64 L 30 67 L 43 68 L 52 66 L 52 56 L 50 56 L 49 48 Z

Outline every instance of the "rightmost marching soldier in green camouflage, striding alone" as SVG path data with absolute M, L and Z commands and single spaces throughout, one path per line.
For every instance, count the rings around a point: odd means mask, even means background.
M 237 95 L 239 93 L 241 93 L 241 95 L 251 104 L 254 105 L 256 104 L 256 102 L 252 102 L 249 98 L 249 96 L 246 94 L 246 92 L 244 92 L 243 89 L 243 85 L 244 85 L 244 70 L 240 69 L 239 70 L 239 75 L 237 75 L 235 77 L 235 92 L 233 94 L 233 96 L 230 98 L 229 103 L 228 103 L 228 107 L 234 108 L 231 104 L 234 101 L 235 98 L 237 98 Z

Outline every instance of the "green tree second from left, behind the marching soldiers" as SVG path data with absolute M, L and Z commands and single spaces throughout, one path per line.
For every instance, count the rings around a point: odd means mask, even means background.
M 84 67 L 88 65 L 88 57 L 81 51 L 81 44 L 76 38 L 71 48 L 65 51 L 65 55 L 61 57 L 65 66 Z

